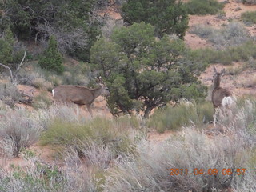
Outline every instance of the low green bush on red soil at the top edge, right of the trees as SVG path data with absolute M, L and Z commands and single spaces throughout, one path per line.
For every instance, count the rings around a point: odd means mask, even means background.
M 186 3 L 188 14 L 217 14 L 224 4 L 216 0 L 190 0 Z

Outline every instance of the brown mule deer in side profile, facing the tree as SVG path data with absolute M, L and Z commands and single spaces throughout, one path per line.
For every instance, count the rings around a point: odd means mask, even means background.
M 90 116 L 93 117 L 93 113 L 90 109 L 90 105 L 94 102 L 95 98 L 98 96 L 108 96 L 110 95 L 107 87 L 102 83 L 102 79 L 99 78 L 100 86 L 96 89 L 89 89 L 85 86 L 71 86 L 62 85 L 57 86 L 52 90 L 54 97 L 54 102 L 57 103 L 75 103 L 78 106 L 86 105 Z

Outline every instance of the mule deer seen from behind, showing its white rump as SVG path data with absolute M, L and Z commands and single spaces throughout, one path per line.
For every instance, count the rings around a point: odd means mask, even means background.
M 230 108 L 232 103 L 234 102 L 234 98 L 229 90 L 226 90 L 220 86 L 221 78 L 225 74 L 225 69 L 222 69 L 220 73 L 216 70 L 214 66 L 214 90 L 211 95 L 211 100 L 214 104 L 214 112 L 216 115 L 216 110 L 224 110 Z M 214 118 L 214 126 L 215 126 L 215 118 Z

